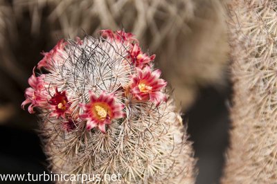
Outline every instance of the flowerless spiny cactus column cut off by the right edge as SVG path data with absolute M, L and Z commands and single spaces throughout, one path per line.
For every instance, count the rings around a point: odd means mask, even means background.
M 277 183 L 277 1 L 231 1 L 231 147 L 222 183 Z

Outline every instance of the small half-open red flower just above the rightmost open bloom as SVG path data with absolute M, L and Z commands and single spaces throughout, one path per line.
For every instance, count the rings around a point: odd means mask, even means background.
M 129 52 L 129 58 L 131 58 L 132 63 L 139 68 L 148 66 L 148 64 L 155 59 L 156 55 L 148 56 L 141 51 L 139 44 L 132 44 Z

